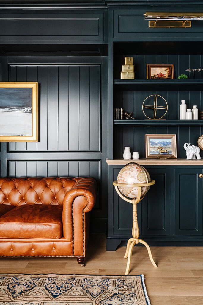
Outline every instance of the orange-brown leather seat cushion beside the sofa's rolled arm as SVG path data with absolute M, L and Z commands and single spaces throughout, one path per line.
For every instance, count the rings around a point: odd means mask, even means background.
M 0 238 L 59 239 L 63 234 L 59 205 L 23 204 L 0 217 Z

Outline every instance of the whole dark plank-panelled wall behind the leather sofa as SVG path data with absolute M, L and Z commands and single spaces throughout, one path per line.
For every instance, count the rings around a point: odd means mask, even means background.
M 107 223 L 107 58 L 2 57 L 1 81 L 38 81 L 39 142 L 1 143 L 1 177 L 93 177 L 92 232 Z

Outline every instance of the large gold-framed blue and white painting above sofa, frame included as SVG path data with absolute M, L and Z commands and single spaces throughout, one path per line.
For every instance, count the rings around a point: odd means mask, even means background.
M 38 141 L 38 82 L 0 82 L 0 142 Z

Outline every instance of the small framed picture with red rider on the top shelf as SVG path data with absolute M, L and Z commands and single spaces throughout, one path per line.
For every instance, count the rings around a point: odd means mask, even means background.
M 147 79 L 174 79 L 174 64 L 147 64 Z

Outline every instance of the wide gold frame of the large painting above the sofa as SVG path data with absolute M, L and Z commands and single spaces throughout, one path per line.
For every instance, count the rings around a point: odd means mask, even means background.
M 0 135 L 0 142 L 38 142 L 38 82 L 0 82 L 0 88 L 32 88 L 32 135 Z

